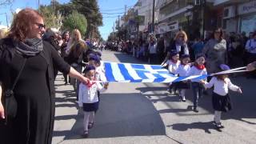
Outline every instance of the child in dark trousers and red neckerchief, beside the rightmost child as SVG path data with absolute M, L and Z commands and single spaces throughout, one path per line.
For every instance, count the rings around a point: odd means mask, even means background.
M 206 75 L 206 67 L 204 66 L 206 62 L 205 56 L 203 54 L 198 54 L 196 56 L 196 60 L 194 62 L 194 66 L 191 67 L 190 71 L 188 72 L 187 76 L 191 75 Z M 193 90 L 193 101 L 194 101 L 194 112 L 198 113 L 198 99 L 202 98 L 202 93 L 205 87 L 202 85 L 200 80 L 194 78 L 191 79 L 192 82 L 192 90 Z

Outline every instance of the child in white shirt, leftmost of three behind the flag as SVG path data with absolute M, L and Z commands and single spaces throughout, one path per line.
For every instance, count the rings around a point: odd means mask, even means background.
M 176 50 L 172 50 L 170 52 L 170 59 L 166 61 L 162 66 L 168 66 L 168 70 L 170 74 L 176 74 L 176 70 L 178 69 L 178 66 L 181 64 L 179 60 L 179 54 Z M 169 91 L 170 94 L 174 94 L 176 92 L 176 83 L 170 82 L 169 84 Z

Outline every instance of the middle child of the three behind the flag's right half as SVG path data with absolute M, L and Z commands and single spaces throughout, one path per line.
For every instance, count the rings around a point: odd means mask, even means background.
M 181 56 L 181 64 L 178 66 L 178 69 L 176 70 L 176 74 L 178 74 L 179 77 L 184 77 L 187 75 L 187 73 L 190 71 L 190 55 L 188 54 L 182 54 Z M 177 88 L 179 92 L 179 97 L 182 102 L 186 102 L 186 90 L 190 89 L 190 83 L 187 81 L 181 81 L 177 82 Z

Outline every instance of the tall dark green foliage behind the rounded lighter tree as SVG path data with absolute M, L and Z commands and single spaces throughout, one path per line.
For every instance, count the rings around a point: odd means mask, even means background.
M 69 3 L 65 3 L 65 4 L 60 4 L 57 0 L 53 0 L 50 2 L 49 6 L 41 6 L 41 7 L 44 7 L 47 10 L 48 9 L 51 10 L 53 14 L 62 14 L 62 18 L 63 18 L 62 22 L 66 22 L 66 26 L 62 26 L 62 29 L 64 30 L 70 29 L 70 27 L 74 25 L 74 22 L 67 22 L 66 18 L 69 18 L 70 14 L 73 14 L 73 11 L 77 11 L 78 14 L 82 14 L 83 16 L 85 16 L 87 20 L 86 30 L 81 30 L 82 35 L 85 34 L 86 38 L 101 38 L 101 34 L 98 31 L 98 26 L 102 26 L 103 22 L 102 22 L 102 14 L 99 11 L 97 0 L 70 0 Z M 50 18 L 48 19 L 52 19 L 53 17 L 48 12 L 46 13 L 46 15 L 50 15 Z M 53 25 L 52 22 L 48 20 L 46 24 L 49 26 Z M 84 31 L 84 33 L 82 31 Z

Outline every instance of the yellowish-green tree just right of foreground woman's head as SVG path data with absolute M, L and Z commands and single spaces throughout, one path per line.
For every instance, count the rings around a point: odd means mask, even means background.
M 44 17 L 44 22 L 47 27 L 62 27 L 62 14 L 55 14 L 50 6 L 40 6 L 40 14 Z

